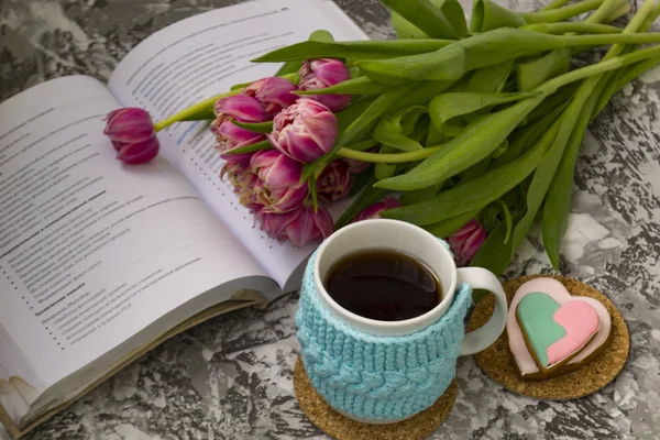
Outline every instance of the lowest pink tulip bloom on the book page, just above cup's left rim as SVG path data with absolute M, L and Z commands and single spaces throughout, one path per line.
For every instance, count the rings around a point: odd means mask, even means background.
M 320 242 L 334 231 L 334 223 L 328 210 L 319 206 L 318 212 L 311 206 L 299 206 L 285 213 L 262 213 L 258 216 L 261 229 L 268 237 L 289 240 L 294 245 L 302 248 L 307 243 Z

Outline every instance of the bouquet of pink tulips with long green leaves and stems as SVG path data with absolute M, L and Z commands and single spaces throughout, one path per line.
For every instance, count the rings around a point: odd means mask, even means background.
M 660 42 L 648 32 L 660 6 L 647 0 L 620 29 L 608 23 L 628 0 L 528 13 L 475 0 L 469 25 L 457 0 L 382 2 L 398 40 L 317 31 L 254 61 L 284 63 L 276 76 L 155 125 L 139 109 L 110 114 L 119 158 L 151 160 L 155 131 L 212 108 L 222 177 L 275 239 L 302 245 L 380 216 L 449 238 L 460 265 L 501 273 L 540 218 L 557 267 L 582 139 L 614 94 L 660 63 L 660 46 L 640 46 Z M 597 63 L 571 68 L 604 45 Z M 125 136 L 122 117 L 139 136 Z M 353 195 L 333 224 L 326 206 Z

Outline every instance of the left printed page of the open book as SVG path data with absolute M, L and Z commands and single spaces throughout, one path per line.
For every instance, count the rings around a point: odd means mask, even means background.
M 266 275 L 167 161 L 114 158 L 102 130 L 118 107 L 88 77 L 0 105 L 0 364 L 41 391 L 197 295 Z

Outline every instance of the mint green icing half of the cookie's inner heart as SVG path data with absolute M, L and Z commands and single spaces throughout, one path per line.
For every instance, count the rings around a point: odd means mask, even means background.
M 522 297 L 516 314 L 527 340 L 543 366 L 548 366 L 547 350 L 566 336 L 563 327 L 552 316 L 561 306 L 551 296 L 535 292 Z

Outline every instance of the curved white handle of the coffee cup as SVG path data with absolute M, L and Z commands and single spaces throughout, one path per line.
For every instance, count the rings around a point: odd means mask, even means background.
M 461 267 L 457 270 L 458 283 L 468 283 L 472 288 L 481 288 L 495 295 L 495 311 L 488 322 L 465 334 L 461 343 L 461 355 L 479 353 L 488 348 L 499 338 L 508 316 L 506 294 L 499 279 L 490 271 L 482 267 Z

